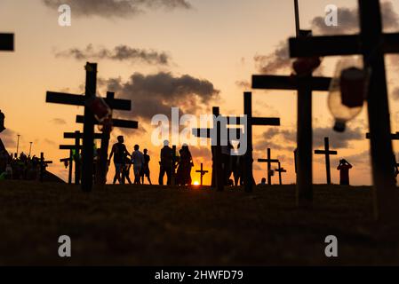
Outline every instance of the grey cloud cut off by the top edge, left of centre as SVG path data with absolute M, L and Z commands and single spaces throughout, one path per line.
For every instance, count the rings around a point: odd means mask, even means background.
M 52 9 L 68 4 L 76 17 L 128 18 L 148 10 L 191 9 L 187 0 L 43 0 Z

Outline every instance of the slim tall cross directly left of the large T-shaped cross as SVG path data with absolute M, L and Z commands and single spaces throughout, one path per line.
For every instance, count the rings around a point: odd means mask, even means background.
M 280 126 L 280 118 L 276 117 L 253 117 L 252 116 L 252 93 L 247 91 L 243 93 L 243 114 L 247 116 L 247 152 L 245 154 L 244 186 L 245 192 L 252 192 L 253 174 L 252 174 L 252 127 L 253 126 Z

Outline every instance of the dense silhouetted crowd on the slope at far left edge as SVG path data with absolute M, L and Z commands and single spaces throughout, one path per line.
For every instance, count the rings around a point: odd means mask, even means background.
M 40 177 L 41 170 L 45 170 L 47 165 L 38 157 L 28 156 L 23 152 L 19 157 L 8 154 L 7 151 L 0 152 L 0 180 L 2 179 L 25 179 L 37 180 Z

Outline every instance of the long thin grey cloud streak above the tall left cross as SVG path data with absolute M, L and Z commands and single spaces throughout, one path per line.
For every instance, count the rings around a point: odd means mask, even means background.
M 164 51 L 153 51 L 132 48 L 127 45 L 117 45 L 110 50 L 104 47 L 94 49 L 92 44 L 88 44 L 84 49 L 71 48 L 67 51 L 59 51 L 55 54 L 58 58 L 73 58 L 76 60 L 86 59 L 110 59 L 116 61 L 130 60 L 133 63 L 137 61 L 156 65 L 169 65 L 170 56 Z

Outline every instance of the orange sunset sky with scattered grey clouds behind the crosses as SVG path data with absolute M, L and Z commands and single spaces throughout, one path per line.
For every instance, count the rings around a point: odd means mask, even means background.
M 399 31 L 399 3 L 382 1 L 384 29 Z M 60 4 L 70 4 L 71 27 L 60 27 Z M 339 27 L 323 26 L 327 4 L 339 7 Z M 301 28 L 314 35 L 355 34 L 357 1 L 299 0 Z M 154 114 L 171 114 L 172 106 L 188 114 L 209 113 L 219 106 L 222 114 L 243 113 L 243 91 L 251 91 L 251 75 L 290 75 L 286 59 L 288 37 L 294 36 L 292 0 L 1 0 L 0 32 L 15 34 L 15 51 L 0 52 L 0 109 L 7 130 L 0 134 L 10 152 L 44 152 L 54 161 L 49 168 L 62 178 L 67 170 L 58 162 L 68 152 L 60 144 L 71 144 L 63 132 L 82 130 L 75 123 L 83 108 L 45 103 L 46 91 L 84 92 L 84 64 L 97 62 L 98 93 L 116 91 L 117 98 L 132 99 L 132 112 L 116 117 L 140 122 L 139 130 L 114 130 L 111 143 L 123 134 L 128 149 L 147 147 L 151 176 L 157 181 L 159 147 L 151 144 Z M 399 130 L 399 68 L 395 56 L 386 57 L 392 131 Z M 333 75 L 337 58 L 323 59 L 318 75 Z M 254 129 L 254 159 L 264 158 L 267 147 L 288 170 L 283 182 L 293 183 L 292 150 L 296 137 L 294 91 L 253 91 L 257 116 L 277 116 L 280 127 Z M 364 107 L 365 108 L 365 107 Z M 331 160 L 332 181 L 339 182 L 335 168 L 346 158 L 354 185 L 371 184 L 366 111 L 348 124 L 344 134 L 332 130 L 327 93 L 314 93 L 314 146 L 323 146 L 329 136 L 339 154 Z M 394 142 L 395 151 L 398 150 Z M 198 170 L 203 162 L 210 170 L 209 147 L 191 147 Z M 323 156 L 314 156 L 314 183 L 325 183 Z M 108 180 L 114 169 L 110 170 Z M 131 173 L 132 174 L 132 173 Z M 254 162 L 257 182 L 266 176 L 266 164 Z M 211 175 L 204 177 L 210 184 Z M 274 182 L 278 180 L 274 177 Z M 199 175 L 193 172 L 193 180 Z

